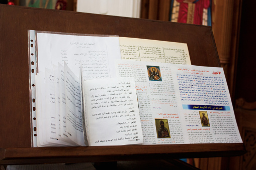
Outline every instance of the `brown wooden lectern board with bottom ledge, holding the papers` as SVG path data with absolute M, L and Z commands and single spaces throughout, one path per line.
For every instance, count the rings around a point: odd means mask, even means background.
M 0 164 L 235 156 L 243 143 L 31 147 L 28 30 L 187 43 L 191 63 L 220 67 L 211 27 L 0 5 Z

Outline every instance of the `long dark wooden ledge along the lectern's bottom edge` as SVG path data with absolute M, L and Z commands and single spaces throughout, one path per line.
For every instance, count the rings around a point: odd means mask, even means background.
M 148 160 L 243 153 L 242 143 L 7 148 L 0 149 L 0 164 Z

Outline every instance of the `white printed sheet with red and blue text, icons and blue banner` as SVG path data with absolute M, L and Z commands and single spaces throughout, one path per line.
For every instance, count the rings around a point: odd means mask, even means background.
M 134 77 L 143 144 L 242 142 L 222 68 L 117 61 Z

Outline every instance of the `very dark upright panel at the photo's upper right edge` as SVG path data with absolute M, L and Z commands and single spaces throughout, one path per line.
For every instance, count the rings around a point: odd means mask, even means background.
M 256 81 L 254 78 L 251 79 L 251 77 L 254 77 L 256 74 L 256 57 L 251 54 L 251 49 L 254 49 L 256 45 L 256 34 L 254 33 L 256 29 L 256 23 L 254 22 L 256 13 L 252 12 L 255 6 L 255 1 L 242 1 L 236 72 L 235 99 L 242 97 L 248 102 L 256 101 Z

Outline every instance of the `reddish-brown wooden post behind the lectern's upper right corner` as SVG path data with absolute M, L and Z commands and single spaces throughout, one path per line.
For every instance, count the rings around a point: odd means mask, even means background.
M 226 80 L 232 101 L 234 101 L 235 97 L 235 76 L 237 65 L 241 6 L 242 0 L 216 0 L 212 2 L 212 30 L 214 33 L 220 57 L 220 62 L 222 67 L 224 68 L 224 72 L 226 75 Z M 251 7 L 253 7 L 253 5 L 251 5 Z M 252 16 L 249 16 L 248 18 L 251 17 Z M 246 28 L 247 27 L 248 26 L 246 26 Z M 251 26 L 249 25 L 249 27 Z M 249 39 L 247 38 L 246 42 L 247 40 Z M 253 38 L 251 40 L 253 40 Z

